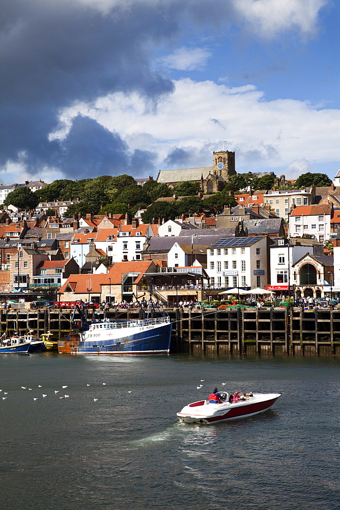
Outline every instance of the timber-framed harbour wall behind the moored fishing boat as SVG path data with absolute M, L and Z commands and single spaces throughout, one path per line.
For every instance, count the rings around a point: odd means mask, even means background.
M 239 309 L 168 312 L 173 322 L 172 352 L 207 355 L 340 356 L 340 310 Z M 73 310 L 0 312 L 2 331 L 11 336 L 27 327 L 57 338 L 71 331 Z M 104 319 L 138 319 L 140 310 L 103 312 Z M 78 315 L 75 320 L 80 320 Z

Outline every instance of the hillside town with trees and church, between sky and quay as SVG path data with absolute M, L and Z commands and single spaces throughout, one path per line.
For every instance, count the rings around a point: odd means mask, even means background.
M 237 174 L 235 153 L 155 179 L 0 186 L 2 300 L 164 303 L 229 289 L 340 296 L 340 171 Z

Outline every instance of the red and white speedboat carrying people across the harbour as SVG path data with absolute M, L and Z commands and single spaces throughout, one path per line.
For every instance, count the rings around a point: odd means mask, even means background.
M 220 392 L 225 401 L 212 404 L 208 400 L 192 402 L 183 407 L 177 416 L 182 423 L 205 423 L 207 425 L 218 421 L 247 418 L 267 411 L 281 396 L 281 393 L 251 393 L 246 400 L 229 402 L 229 393 Z

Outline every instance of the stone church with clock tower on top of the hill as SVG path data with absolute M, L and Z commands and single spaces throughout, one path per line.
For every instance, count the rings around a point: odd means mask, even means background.
M 235 152 L 220 150 L 213 152 L 212 166 L 160 170 L 157 183 L 166 184 L 169 188 L 183 181 L 200 183 L 203 193 L 209 194 L 221 191 L 232 175 L 236 175 Z

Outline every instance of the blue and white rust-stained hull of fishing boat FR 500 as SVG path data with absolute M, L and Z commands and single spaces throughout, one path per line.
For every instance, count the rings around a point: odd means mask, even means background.
M 170 349 L 172 324 L 163 323 L 143 331 L 129 334 L 120 339 L 89 339 L 82 341 L 75 335 L 68 340 L 58 341 L 58 351 L 68 354 L 168 354 Z M 136 328 L 140 329 L 140 328 Z M 144 328 L 145 329 L 145 328 Z M 123 332 L 123 330 L 122 330 Z

